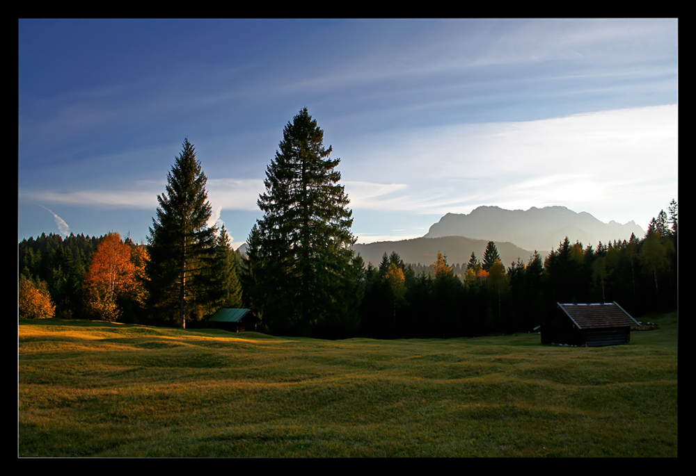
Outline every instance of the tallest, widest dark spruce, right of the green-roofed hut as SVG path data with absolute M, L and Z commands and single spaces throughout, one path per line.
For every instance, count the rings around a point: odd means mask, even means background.
M 251 301 L 276 333 L 309 335 L 349 311 L 352 212 L 323 139 L 307 108 L 287 123 L 248 240 Z

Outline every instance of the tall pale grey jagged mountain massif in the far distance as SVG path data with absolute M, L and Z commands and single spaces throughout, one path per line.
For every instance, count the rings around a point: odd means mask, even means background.
M 556 248 L 566 236 L 583 246 L 628 240 L 631 233 L 641 238 L 644 231 L 635 222 L 601 222 L 587 212 L 576 213 L 564 206 L 532 207 L 527 211 L 480 206 L 468 215 L 448 213 L 430 227 L 425 238 L 466 236 L 477 240 L 509 242 L 541 254 Z

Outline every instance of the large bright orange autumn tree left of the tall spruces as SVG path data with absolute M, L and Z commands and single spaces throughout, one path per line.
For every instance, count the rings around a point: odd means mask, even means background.
M 144 302 L 145 261 L 145 249 L 126 245 L 118 233 L 104 236 L 83 282 L 87 309 L 100 319 L 114 321 L 120 316 L 117 299 Z

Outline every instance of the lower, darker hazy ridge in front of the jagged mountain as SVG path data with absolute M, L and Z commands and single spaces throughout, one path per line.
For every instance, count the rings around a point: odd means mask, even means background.
M 443 236 L 438 238 L 413 238 L 411 240 L 400 241 L 378 241 L 365 245 L 354 245 L 353 249 L 360 253 L 365 263 L 372 262 L 378 266 L 384 253 L 391 254 L 397 252 L 404 260 L 404 263 L 430 265 L 437 259 L 438 252 L 447 256 L 450 265 L 456 263 L 468 263 L 471 252 L 476 254 L 479 261 L 482 260 L 486 251 L 488 240 L 475 240 L 465 236 Z M 500 260 L 507 267 L 517 258 L 521 258 L 525 263 L 532 255 L 531 251 L 522 249 L 512 243 L 497 242 Z M 543 255 L 542 255 L 543 258 Z

